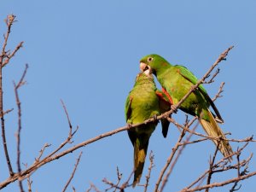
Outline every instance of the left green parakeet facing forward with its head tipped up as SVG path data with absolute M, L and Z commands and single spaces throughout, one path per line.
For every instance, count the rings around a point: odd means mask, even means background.
M 166 96 L 156 89 L 152 74 L 147 71 L 137 74 L 136 82 L 125 102 L 125 119 L 127 124 L 143 123 L 144 120 L 164 113 L 170 109 Z M 169 122 L 161 120 L 162 133 L 166 137 Z M 134 148 L 134 181 L 133 187 L 139 183 L 143 174 L 143 166 L 148 149 L 149 137 L 153 133 L 157 120 L 132 128 L 128 131 Z

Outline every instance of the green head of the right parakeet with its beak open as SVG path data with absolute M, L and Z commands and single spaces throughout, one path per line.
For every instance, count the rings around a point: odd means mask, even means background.
M 140 61 L 140 69 L 142 72 L 148 70 L 148 73 L 156 73 L 165 67 L 168 67 L 170 64 L 160 55 L 147 55 L 144 56 L 143 59 Z

